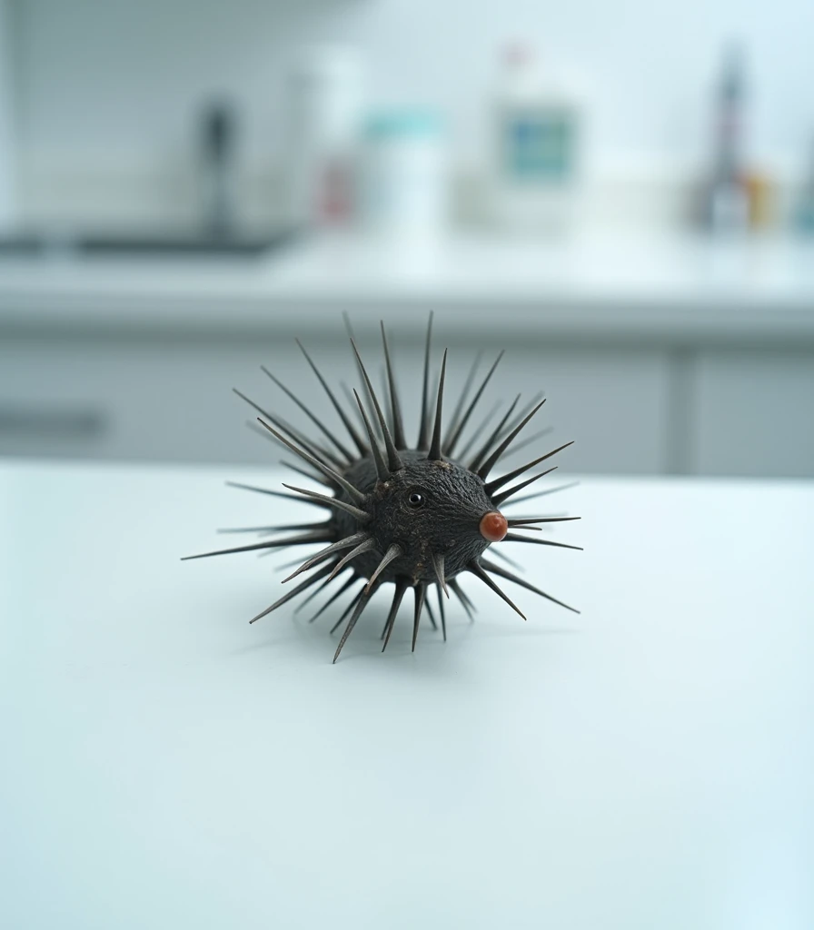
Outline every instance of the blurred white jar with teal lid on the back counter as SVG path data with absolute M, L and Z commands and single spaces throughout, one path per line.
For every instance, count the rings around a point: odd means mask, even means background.
M 428 110 L 373 113 L 361 159 L 362 220 L 370 233 L 432 239 L 447 226 L 444 128 Z

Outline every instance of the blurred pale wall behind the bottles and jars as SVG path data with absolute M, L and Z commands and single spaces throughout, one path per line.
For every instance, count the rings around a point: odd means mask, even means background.
M 164 172 L 190 156 L 195 104 L 226 90 L 250 160 L 280 144 L 281 75 L 310 39 L 367 53 L 378 102 L 432 101 L 460 161 L 481 151 L 505 38 L 535 39 L 593 87 L 600 172 L 696 165 L 727 38 L 748 49 L 750 136 L 768 164 L 804 164 L 814 136 L 811 0 L 17 0 L 20 147 L 40 181 L 73 166 Z

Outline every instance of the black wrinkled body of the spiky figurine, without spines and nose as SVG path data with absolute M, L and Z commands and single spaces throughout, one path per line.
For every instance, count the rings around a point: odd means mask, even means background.
M 395 542 L 404 554 L 381 573 L 379 580 L 397 577 L 411 582 L 437 580 L 433 553 L 444 555 L 445 575 L 454 578 L 465 566 L 488 548 L 479 524 L 485 513 L 495 510 L 483 481 L 455 461 L 431 461 L 424 452 L 399 451 L 404 468 L 386 482 L 379 483 L 370 458 L 361 458 L 344 477 L 368 495 L 362 510 L 372 515 L 360 524 L 350 514 L 339 512 L 336 523 L 339 537 L 351 536 L 364 528 L 376 540 L 376 549 L 363 552 L 353 561 L 356 572 L 370 578 L 382 555 Z M 419 492 L 423 506 L 412 508 L 407 498 Z M 344 492 L 338 495 L 346 500 Z

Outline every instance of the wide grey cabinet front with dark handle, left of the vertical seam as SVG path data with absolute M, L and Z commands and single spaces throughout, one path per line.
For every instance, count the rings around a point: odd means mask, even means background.
M 366 327 L 367 330 L 367 327 Z M 360 351 L 379 375 L 378 333 L 360 332 Z M 416 336 L 419 337 L 418 332 Z M 371 339 L 373 337 L 373 339 Z M 346 339 L 306 339 L 309 352 L 340 392 L 358 387 Z M 580 472 L 664 470 L 666 365 L 660 352 L 601 351 L 506 343 L 506 355 L 479 406 L 522 392 L 546 394 L 534 426 L 575 445 L 561 467 Z M 393 344 L 407 421 L 417 422 L 420 339 Z M 450 347 L 447 415 L 477 352 L 471 339 Z M 436 342 L 435 366 L 441 346 Z M 491 357 L 489 357 L 489 361 Z M 284 419 L 304 416 L 261 371 L 266 365 L 300 400 L 338 424 L 326 395 L 293 339 L 4 339 L 0 346 L 0 454 L 199 462 L 272 462 L 264 436 L 247 429 L 255 412 L 233 387 Z M 487 371 L 487 357 L 480 371 Z M 377 383 L 380 383 L 377 378 Z M 472 423 L 477 421 L 474 416 Z M 527 428 L 528 434 L 532 426 Z M 518 457 L 528 451 L 518 452 Z M 519 458 L 518 458 L 519 461 Z

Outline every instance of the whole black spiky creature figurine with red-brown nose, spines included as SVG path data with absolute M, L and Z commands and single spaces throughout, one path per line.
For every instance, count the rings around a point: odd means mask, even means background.
M 432 608 L 429 602 L 426 601 L 426 592 L 431 585 L 434 585 L 437 591 L 441 627 L 445 641 L 447 639 L 447 624 L 442 592 L 448 597 L 449 591 L 453 591 L 467 614 L 472 618 L 474 604 L 461 590 L 459 584 L 459 578 L 464 573 L 479 578 L 524 619 L 523 613 L 500 590 L 493 576 L 507 578 L 529 591 L 535 591 L 549 601 L 553 601 L 554 604 L 560 604 L 568 610 L 574 609 L 568 607 L 567 604 L 563 604 L 562 601 L 557 601 L 545 591 L 540 591 L 539 588 L 529 584 L 525 579 L 519 578 L 513 572 L 485 557 L 487 549 L 493 543 L 501 540 L 535 543 L 540 546 L 560 546 L 565 549 L 580 548 L 549 539 L 529 538 L 521 533 L 511 532 L 512 529 L 537 529 L 536 524 L 558 523 L 565 520 L 576 520 L 579 519 L 578 517 L 540 516 L 527 519 L 507 519 L 499 510 L 501 504 L 510 498 L 514 498 L 514 495 L 519 491 L 536 482 L 543 475 L 553 472 L 554 468 L 538 472 L 511 487 L 506 488 L 505 485 L 509 485 L 515 478 L 528 472 L 571 444 L 560 445 L 553 451 L 527 462 L 520 468 L 515 468 L 512 472 L 489 481 L 489 474 L 497 465 L 500 457 L 509 449 L 517 434 L 545 403 L 544 399 L 536 398 L 530 407 L 527 407 L 512 419 L 514 409 L 520 401 L 520 395 L 518 394 L 514 399 L 514 403 L 503 414 L 498 425 L 487 436 L 480 430 L 474 432 L 474 436 L 467 446 L 462 448 L 458 455 L 455 455 L 455 450 L 460 443 L 461 433 L 472 417 L 474 409 L 480 401 L 503 353 L 500 352 L 495 363 L 489 368 L 486 378 L 464 410 L 464 404 L 472 387 L 477 367 L 478 360 L 475 360 L 475 365 L 470 372 L 463 392 L 461 392 L 456 411 L 452 416 L 451 425 L 446 433 L 442 433 L 447 351 L 445 350 L 441 363 L 441 374 L 433 405 L 430 403 L 429 396 L 432 326 L 433 316 L 430 314 L 424 353 L 419 436 L 415 447 L 408 445 L 405 437 L 401 405 L 396 391 L 394 370 L 383 325 L 381 326 L 381 339 L 387 371 L 387 390 L 390 395 L 389 418 L 385 416 L 381 409 L 379 398 L 370 383 L 367 370 L 356 349 L 354 339 L 351 339 L 356 363 L 367 392 L 367 399 L 369 405 L 372 406 L 373 417 L 371 418 L 371 411 L 366 409 L 366 405 L 363 404 L 358 393 L 354 391 L 360 422 L 364 426 L 364 435 L 360 434 L 356 426 L 354 426 L 353 421 L 329 388 L 326 379 L 314 365 L 311 356 L 302 347 L 299 339 L 297 340 L 300 351 L 305 356 L 308 364 L 311 365 L 316 378 L 319 379 L 320 384 L 327 393 L 327 397 L 339 414 L 340 420 L 355 446 L 355 452 L 340 441 L 320 419 L 317 419 L 311 410 L 303 405 L 266 368 L 263 368 L 263 371 L 279 388 L 287 393 L 295 404 L 300 406 L 306 416 L 314 422 L 316 428 L 327 438 L 332 448 L 314 442 L 313 439 L 303 435 L 300 430 L 288 425 L 283 419 L 275 417 L 267 410 L 254 404 L 244 394 L 235 391 L 261 414 L 261 417 L 258 418 L 260 425 L 274 437 L 274 440 L 296 453 L 307 463 L 309 471 L 303 473 L 307 473 L 310 478 L 327 485 L 327 488 L 332 493 L 330 495 L 318 494 L 315 491 L 293 485 L 284 486 L 288 490 L 294 491 L 295 494 L 249 487 L 247 485 L 235 486 L 259 491 L 262 494 L 269 494 L 278 498 L 300 500 L 303 503 L 325 508 L 330 512 L 330 516 L 323 523 L 253 527 L 260 532 L 298 531 L 300 535 L 274 538 L 271 541 L 239 546 L 235 549 L 204 552 L 201 555 L 188 556 L 188 558 L 198 559 L 210 555 L 224 555 L 230 552 L 273 550 L 287 546 L 327 543 L 325 549 L 308 558 L 284 580 L 290 581 L 303 572 L 315 569 L 312 574 L 304 581 L 300 581 L 291 591 L 288 591 L 278 601 L 263 610 L 257 617 L 252 618 L 250 622 L 254 623 L 255 620 L 265 617 L 266 614 L 270 614 L 277 607 L 286 604 L 292 598 L 321 582 L 307 598 L 307 600 L 311 600 L 316 593 L 326 588 L 331 581 L 345 574 L 347 577 L 344 579 L 339 591 L 336 591 L 327 601 L 327 604 L 324 604 L 318 611 L 313 618 L 316 619 L 328 604 L 331 604 L 344 591 L 348 591 L 354 586 L 354 583 L 361 580 L 364 585 L 361 590 L 355 592 L 350 604 L 347 605 L 344 613 L 331 630 L 331 632 L 336 630 L 347 618 L 347 624 L 333 658 L 334 662 L 339 658 L 342 646 L 353 631 L 356 621 L 362 616 L 362 612 L 367 607 L 370 598 L 382 585 L 388 582 L 394 585 L 394 596 L 381 634 L 384 640 L 382 652 L 390 642 L 395 617 L 407 588 L 412 588 L 415 594 L 413 649 L 416 647 L 421 613 L 425 607 L 434 628 L 437 629 Z M 432 406 L 434 406 L 434 413 L 431 410 Z M 482 439 L 480 445 L 477 442 L 479 439 Z M 383 445 L 383 450 L 380 444 Z M 474 452 L 472 451 L 473 447 L 475 447 Z M 299 468 L 294 466 L 289 467 L 294 468 L 295 471 L 300 471 Z M 514 498 L 513 503 L 539 498 L 561 489 L 552 488 L 522 498 Z M 501 555 L 502 553 L 498 554 Z

